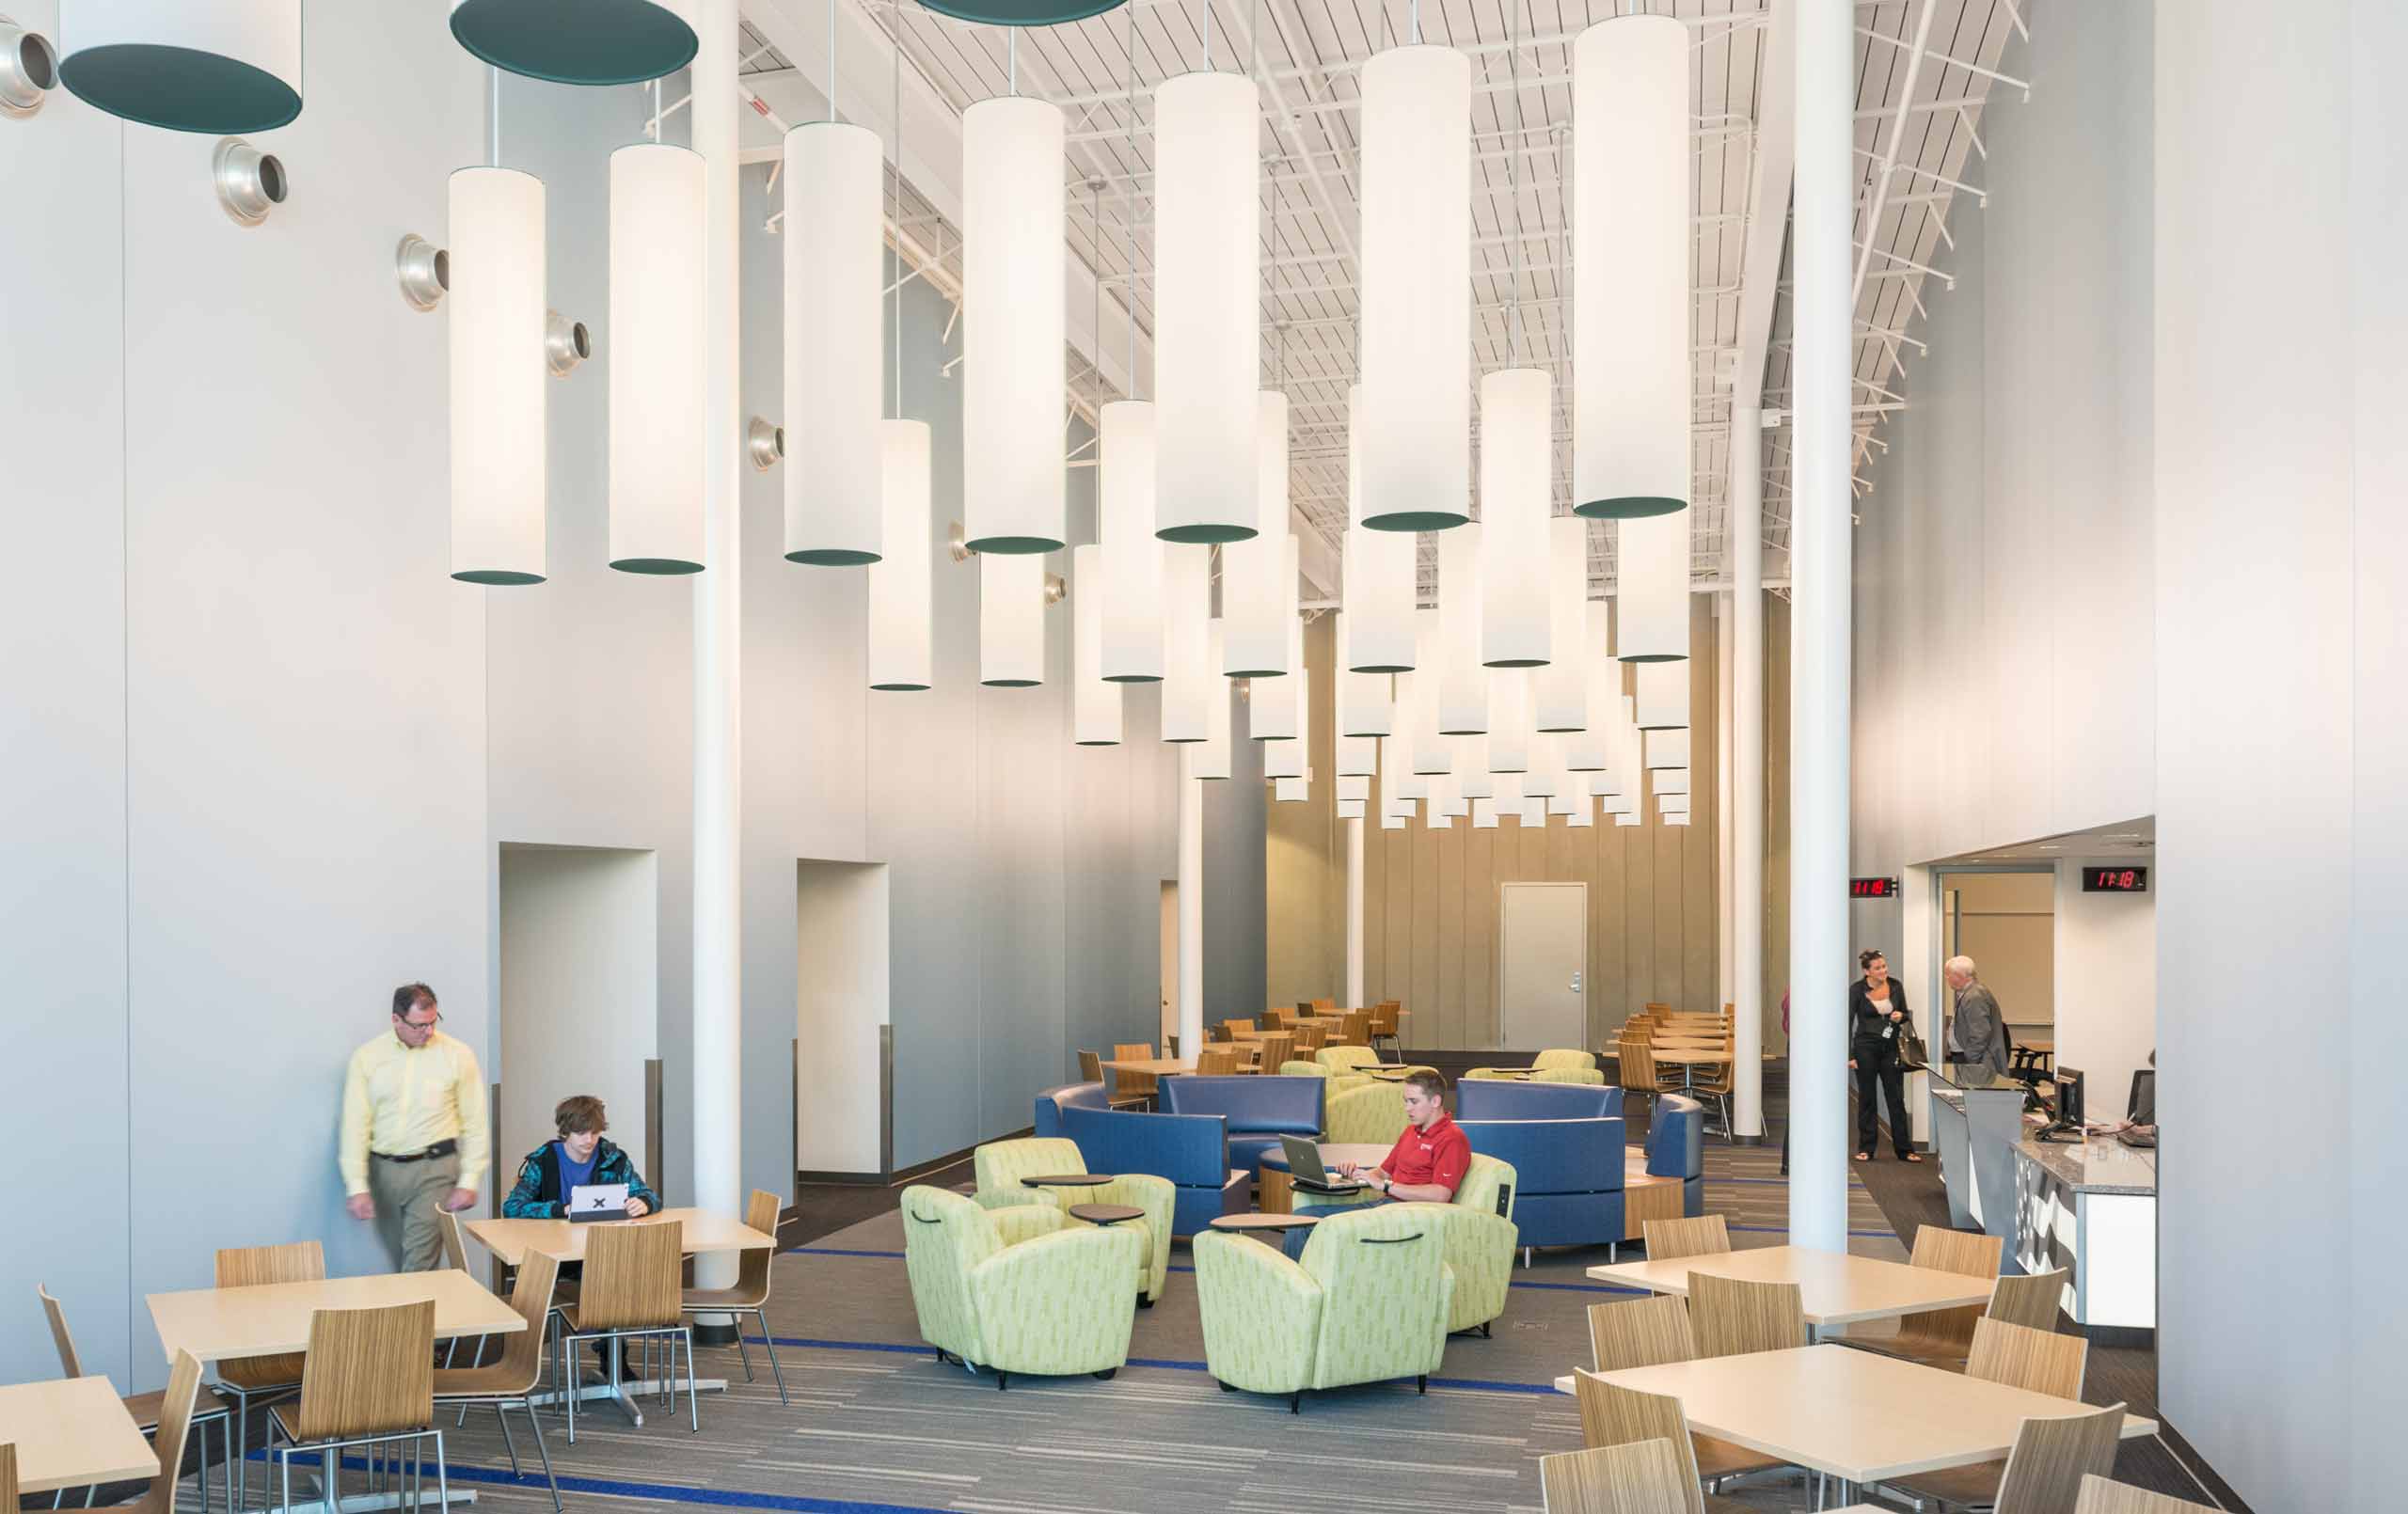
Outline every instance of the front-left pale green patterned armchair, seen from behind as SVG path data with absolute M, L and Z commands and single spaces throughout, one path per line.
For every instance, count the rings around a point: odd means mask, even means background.
M 1007 1225 L 1009 1216 L 1009 1225 Z M 1007 1228 L 1028 1230 L 1009 1242 Z M 1134 1225 L 1064 1228 L 1023 1203 L 980 1208 L 927 1184 L 903 1189 L 903 1266 L 920 1338 L 937 1360 L 1011 1372 L 1110 1377 L 1129 1360 L 1144 1235 Z

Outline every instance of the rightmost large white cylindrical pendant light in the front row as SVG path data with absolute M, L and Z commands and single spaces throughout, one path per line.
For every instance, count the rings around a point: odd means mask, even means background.
M 1572 41 L 1572 508 L 1688 508 L 1688 26 Z

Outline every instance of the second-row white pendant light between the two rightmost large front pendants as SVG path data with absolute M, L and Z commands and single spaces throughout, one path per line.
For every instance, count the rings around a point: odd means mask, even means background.
M 1481 662 L 1488 667 L 1544 667 L 1560 657 L 1548 595 L 1553 395 L 1544 368 L 1481 378 Z

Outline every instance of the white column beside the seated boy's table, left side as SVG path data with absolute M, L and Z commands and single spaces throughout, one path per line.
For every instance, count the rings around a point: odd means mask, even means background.
M 703 563 L 694 575 L 694 1206 L 744 1213 L 744 566 L 737 455 L 737 0 L 701 0 L 694 149 L 703 156 Z M 732 1288 L 734 1254 L 696 1256 Z

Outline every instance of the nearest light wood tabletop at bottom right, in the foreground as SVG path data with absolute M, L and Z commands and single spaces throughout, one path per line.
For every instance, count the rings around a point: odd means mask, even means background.
M 1864 1483 L 1999 1461 L 2023 1420 L 2090 1408 L 1847 1346 L 1755 1350 L 1599 1377 L 1642 1394 L 1671 1394 L 1693 1432 L 1837 1478 L 1842 1500 L 1857 1497 Z M 1570 1391 L 1572 1379 L 1558 1377 L 1556 1386 Z M 2124 1415 L 2124 1439 L 2155 1432 L 2155 1420 Z

